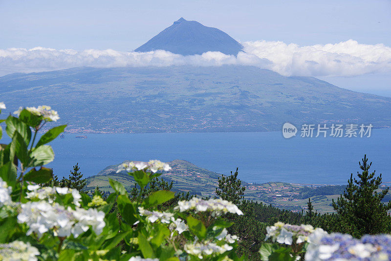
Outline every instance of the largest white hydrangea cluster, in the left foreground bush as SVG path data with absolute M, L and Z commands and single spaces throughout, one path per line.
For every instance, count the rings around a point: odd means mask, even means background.
M 21 207 L 18 222 L 29 226 L 27 236 L 35 232 L 41 237 L 43 233 L 52 229 L 58 237 L 68 237 L 71 234 L 78 237 L 90 226 L 99 235 L 105 227 L 105 213 L 96 209 L 65 209 L 57 203 L 49 204 L 46 201 L 29 201 Z

